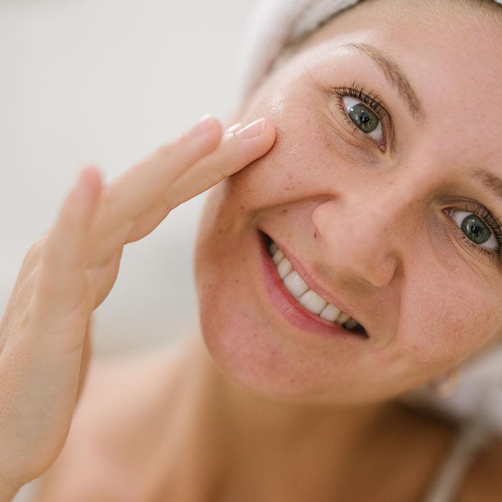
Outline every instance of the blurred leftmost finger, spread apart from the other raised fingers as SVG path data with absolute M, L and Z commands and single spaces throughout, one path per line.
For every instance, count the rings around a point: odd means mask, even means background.
M 71 314 L 83 300 L 88 233 L 100 191 L 99 170 L 83 168 L 45 237 L 35 298 L 40 320 L 49 324 Z

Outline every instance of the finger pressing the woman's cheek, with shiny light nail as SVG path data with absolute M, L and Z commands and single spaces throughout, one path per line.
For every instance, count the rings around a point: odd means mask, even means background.
M 265 155 L 275 141 L 275 128 L 270 120 L 264 118 L 254 120 L 244 128 L 231 129 L 225 132 L 213 152 L 180 176 L 161 200 L 137 220 L 128 242 L 148 235 L 170 210 Z

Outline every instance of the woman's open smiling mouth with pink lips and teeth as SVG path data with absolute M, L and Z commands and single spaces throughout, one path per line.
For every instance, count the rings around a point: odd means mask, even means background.
M 283 317 L 295 327 L 307 331 L 330 336 L 342 334 L 359 339 L 368 338 L 365 329 L 351 319 L 341 302 L 316 285 L 281 244 L 278 244 L 277 250 L 274 241 L 263 231 L 260 233 L 266 289 Z M 270 251 L 274 252 L 274 258 Z M 288 255 L 287 259 L 284 252 Z

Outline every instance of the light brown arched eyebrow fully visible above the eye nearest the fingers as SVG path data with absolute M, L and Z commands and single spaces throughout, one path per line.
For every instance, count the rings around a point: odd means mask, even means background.
M 407 102 L 413 116 L 416 119 L 423 119 L 424 110 L 422 103 L 401 66 L 396 61 L 380 49 L 369 44 L 350 42 L 343 44 L 342 47 L 351 47 L 368 55 L 379 66 L 391 85 L 398 90 L 399 95 Z

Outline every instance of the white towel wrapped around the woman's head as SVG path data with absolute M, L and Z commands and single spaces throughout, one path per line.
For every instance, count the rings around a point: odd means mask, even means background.
M 261 0 L 250 20 L 237 65 L 236 103 L 259 84 L 283 48 L 314 31 L 324 21 L 359 0 Z M 494 0 L 502 4 L 502 0 Z M 459 420 L 485 423 L 502 432 L 502 348 L 464 367 L 460 385 L 449 398 L 435 397 L 427 387 L 403 401 L 434 408 Z

